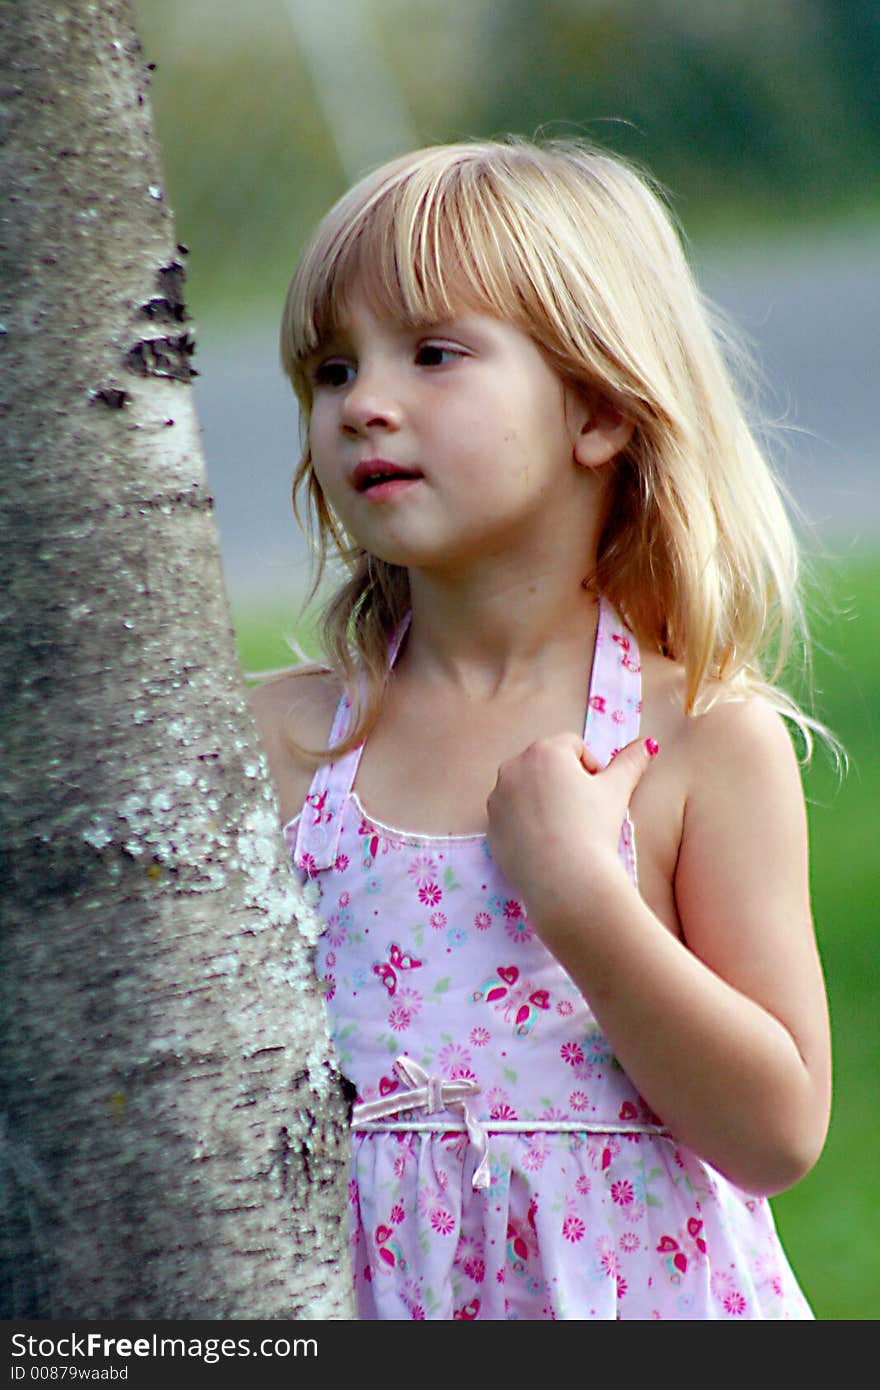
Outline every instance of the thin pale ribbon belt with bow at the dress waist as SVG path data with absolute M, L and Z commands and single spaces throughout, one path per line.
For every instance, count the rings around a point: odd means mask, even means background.
M 393 1065 L 395 1072 L 409 1090 L 393 1091 L 392 1095 L 381 1095 L 377 1101 L 361 1101 L 352 1111 L 352 1129 L 361 1133 L 370 1130 L 412 1133 L 427 1130 L 430 1133 L 446 1133 L 463 1129 L 471 1143 L 477 1156 L 473 1187 L 480 1190 L 491 1183 L 489 1175 L 489 1134 L 653 1134 L 659 1138 L 671 1138 L 673 1134 L 663 1125 L 646 1125 L 641 1120 L 478 1120 L 467 1101 L 480 1094 L 480 1086 L 470 1077 L 456 1077 L 445 1081 L 439 1076 L 430 1076 L 412 1056 L 399 1056 Z M 425 1115 L 437 1115 L 441 1111 L 459 1111 L 462 1120 L 395 1120 L 388 1122 L 389 1115 L 399 1111 L 424 1111 Z

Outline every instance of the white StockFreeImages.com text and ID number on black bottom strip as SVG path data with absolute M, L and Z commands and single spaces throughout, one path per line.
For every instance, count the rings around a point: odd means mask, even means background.
M 318 1344 L 314 1337 L 163 1337 L 150 1333 L 147 1337 L 106 1337 L 100 1332 L 68 1333 L 61 1337 L 36 1337 L 26 1333 L 13 1333 L 13 1357 L 31 1359 L 31 1365 L 14 1361 L 13 1380 L 127 1380 L 128 1365 L 88 1366 L 78 1365 L 85 1359 L 122 1361 L 175 1358 L 181 1361 L 202 1361 L 214 1365 L 235 1357 L 317 1357 Z M 51 1362 L 47 1365 L 46 1362 Z M 53 1375 L 51 1371 L 58 1375 Z

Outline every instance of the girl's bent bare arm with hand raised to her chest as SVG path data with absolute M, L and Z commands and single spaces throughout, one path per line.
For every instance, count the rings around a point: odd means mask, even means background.
M 546 739 L 502 767 L 494 858 L 652 1109 L 738 1186 L 781 1191 L 819 1156 L 830 1108 L 806 821 L 785 728 L 758 699 L 688 720 L 674 873 L 683 940 L 617 858 L 645 745 L 595 776 L 581 751 L 574 737 Z

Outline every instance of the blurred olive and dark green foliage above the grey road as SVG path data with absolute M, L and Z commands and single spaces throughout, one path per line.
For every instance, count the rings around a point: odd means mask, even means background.
M 136 0 L 196 311 L 278 303 L 396 150 L 580 135 L 691 236 L 880 210 L 876 0 Z

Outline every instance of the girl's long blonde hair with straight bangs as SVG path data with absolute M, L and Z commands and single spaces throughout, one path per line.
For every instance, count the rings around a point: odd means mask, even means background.
M 324 619 L 328 659 L 357 699 L 336 751 L 378 717 L 388 638 L 409 606 L 406 570 L 345 535 L 311 468 L 306 361 L 355 284 L 413 324 L 495 314 L 566 382 L 635 421 L 610 466 L 589 588 L 641 644 L 684 666 L 688 713 L 759 692 L 809 751 L 815 721 L 773 684 L 804 632 L 792 527 L 671 217 L 617 157 L 520 139 L 434 146 L 367 175 L 318 225 L 288 292 L 281 356 L 306 427 L 293 503 L 300 516 L 306 495 L 317 530 L 313 594 L 329 546 L 350 571 Z

